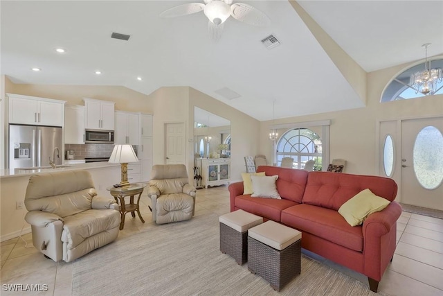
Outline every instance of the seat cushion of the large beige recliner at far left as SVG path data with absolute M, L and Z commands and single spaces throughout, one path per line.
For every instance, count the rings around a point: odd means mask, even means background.
M 85 239 L 119 227 L 120 213 L 114 209 L 89 209 L 67 216 L 63 222 L 62 242 L 73 249 Z

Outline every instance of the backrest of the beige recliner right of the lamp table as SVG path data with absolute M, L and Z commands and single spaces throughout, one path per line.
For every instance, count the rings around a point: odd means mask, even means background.
M 156 186 L 160 194 L 181 193 L 188 184 L 188 171 L 184 164 L 156 164 L 151 178 L 150 186 Z

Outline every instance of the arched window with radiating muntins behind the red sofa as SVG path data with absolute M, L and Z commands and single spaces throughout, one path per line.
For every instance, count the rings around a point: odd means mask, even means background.
M 277 143 L 277 166 L 283 157 L 293 158 L 293 168 L 305 168 L 314 159 L 314 171 L 322 168 L 322 141 L 318 134 L 307 128 L 295 128 L 285 132 Z

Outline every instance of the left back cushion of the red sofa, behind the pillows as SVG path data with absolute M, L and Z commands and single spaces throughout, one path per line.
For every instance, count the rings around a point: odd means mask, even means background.
M 257 172 L 265 172 L 266 176 L 278 175 L 275 184 L 281 198 L 298 203 L 302 202 L 307 182 L 307 171 L 278 166 L 259 166 Z

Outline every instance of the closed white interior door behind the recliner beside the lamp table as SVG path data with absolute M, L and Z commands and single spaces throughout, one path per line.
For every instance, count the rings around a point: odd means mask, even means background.
M 186 164 L 185 123 L 165 124 L 165 163 Z

